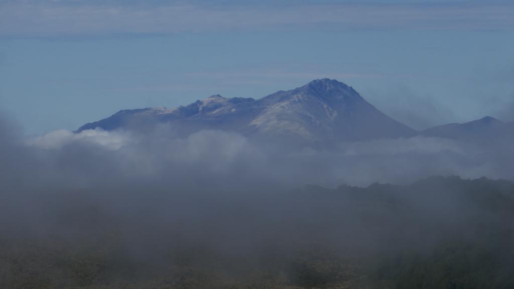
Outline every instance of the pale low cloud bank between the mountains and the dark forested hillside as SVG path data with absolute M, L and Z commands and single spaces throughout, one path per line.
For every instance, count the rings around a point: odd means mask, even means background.
M 96 177 L 231 184 L 368 186 L 408 184 L 432 175 L 513 179 L 507 143 L 472 145 L 444 138 L 379 139 L 340 143 L 330 150 L 256 143 L 237 133 L 200 131 L 177 138 L 160 125 L 144 133 L 55 131 L 19 145 L 33 161 L 66 179 Z M 108 171 L 105 171 L 108 168 Z

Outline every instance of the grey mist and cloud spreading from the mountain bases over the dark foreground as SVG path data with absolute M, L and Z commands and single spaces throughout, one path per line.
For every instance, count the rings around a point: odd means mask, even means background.
M 453 242 L 484 250 L 494 282 L 512 281 L 514 184 L 427 178 L 512 179 L 507 145 L 291 148 L 222 131 L 178 137 L 167 125 L 27 138 L 5 118 L 0 135 L 10 288 L 374 287 Z

